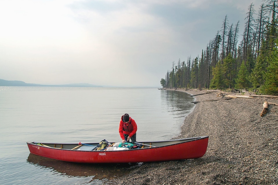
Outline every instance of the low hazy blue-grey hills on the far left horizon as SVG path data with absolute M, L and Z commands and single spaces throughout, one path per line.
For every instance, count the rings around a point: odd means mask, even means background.
M 28 84 L 22 81 L 10 81 L 10 80 L 3 80 L 0 79 L 0 86 L 17 86 L 17 87 L 102 87 L 98 85 L 92 84 L 61 84 L 61 85 L 42 85 L 42 84 Z

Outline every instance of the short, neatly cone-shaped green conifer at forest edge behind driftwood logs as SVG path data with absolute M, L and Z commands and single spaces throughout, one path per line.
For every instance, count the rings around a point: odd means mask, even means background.
M 242 62 L 239 72 L 237 74 L 237 79 L 235 79 L 235 82 L 237 83 L 235 85 L 235 88 L 237 89 L 247 89 L 249 86 L 249 81 L 248 81 L 248 70 L 244 62 Z

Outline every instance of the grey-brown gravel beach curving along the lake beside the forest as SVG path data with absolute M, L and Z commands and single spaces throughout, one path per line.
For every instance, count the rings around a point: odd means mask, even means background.
M 278 184 L 278 98 L 217 97 L 206 90 L 179 90 L 195 96 L 195 108 L 176 138 L 209 136 L 202 158 L 143 163 L 117 184 Z M 229 93 L 232 94 L 232 93 Z M 219 99 L 217 101 L 208 101 Z

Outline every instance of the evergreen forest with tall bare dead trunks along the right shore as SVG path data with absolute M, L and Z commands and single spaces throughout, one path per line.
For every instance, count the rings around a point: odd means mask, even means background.
M 263 0 L 259 10 L 251 3 L 243 34 L 239 21 L 228 24 L 209 41 L 201 56 L 172 62 L 160 84 L 163 88 L 244 89 L 278 95 L 278 1 Z

